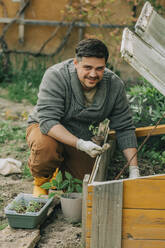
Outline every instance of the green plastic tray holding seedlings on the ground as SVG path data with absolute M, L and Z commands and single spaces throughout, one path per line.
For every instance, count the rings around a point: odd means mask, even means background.
M 26 212 L 26 213 L 17 213 L 15 210 L 11 210 L 14 202 L 24 201 L 25 204 L 32 200 L 37 202 L 43 202 L 45 205 L 40 209 L 39 212 Z M 36 228 L 38 225 L 41 225 L 47 217 L 48 209 L 53 201 L 53 197 L 50 199 L 34 197 L 32 194 L 20 193 L 17 197 L 7 205 L 5 208 L 5 214 L 8 218 L 8 223 L 13 228 Z

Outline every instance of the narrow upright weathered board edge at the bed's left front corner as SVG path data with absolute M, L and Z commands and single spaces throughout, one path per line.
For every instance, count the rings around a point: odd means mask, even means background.
M 83 180 L 83 202 L 82 202 L 82 244 L 86 245 L 86 212 L 87 212 L 87 189 L 90 175 L 86 174 Z

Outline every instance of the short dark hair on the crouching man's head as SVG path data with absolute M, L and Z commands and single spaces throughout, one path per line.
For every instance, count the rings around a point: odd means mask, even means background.
M 81 40 L 76 49 L 76 57 L 96 57 L 105 58 L 105 62 L 108 60 L 109 52 L 106 45 L 98 39 L 85 39 Z

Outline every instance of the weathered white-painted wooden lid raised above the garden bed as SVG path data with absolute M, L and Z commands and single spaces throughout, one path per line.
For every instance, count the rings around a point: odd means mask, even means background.
M 165 19 L 146 2 L 135 25 L 124 29 L 122 57 L 165 95 Z

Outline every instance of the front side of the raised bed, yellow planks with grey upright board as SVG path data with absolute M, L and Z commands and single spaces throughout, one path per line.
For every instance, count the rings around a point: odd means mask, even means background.
M 165 174 L 87 190 L 86 248 L 165 247 Z

